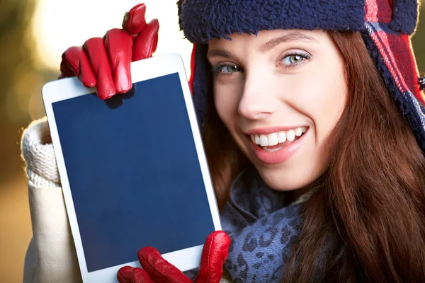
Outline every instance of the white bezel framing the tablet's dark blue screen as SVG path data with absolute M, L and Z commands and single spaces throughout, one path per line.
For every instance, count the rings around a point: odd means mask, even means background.
M 196 152 L 200 163 L 200 170 L 203 175 L 203 182 L 205 184 L 206 195 L 208 197 L 208 204 L 210 206 L 210 213 L 212 216 L 212 223 L 215 230 L 221 230 L 220 214 L 215 199 L 215 193 L 212 187 L 212 181 L 208 169 L 208 163 L 203 149 L 203 141 L 201 139 L 198 122 L 196 120 L 196 112 L 193 107 L 193 100 L 191 91 L 188 86 L 186 72 L 183 66 L 183 60 L 179 54 L 166 54 L 159 57 L 152 57 L 131 63 L 131 76 L 132 82 L 146 81 L 154 79 L 159 76 L 166 76 L 169 74 L 179 74 L 181 88 L 183 91 L 184 100 L 186 103 L 186 110 L 188 112 L 191 129 L 193 132 L 193 139 L 196 145 Z M 77 216 L 74 209 L 74 202 L 72 200 L 71 189 L 69 187 L 69 180 L 67 170 L 64 163 L 64 156 L 62 154 L 62 147 L 60 144 L 59 134 L 57 131 L 55 115 L 52 108 L 52 103 L 57 101 L 66 100 L 69 98 L 76 98 L 84 96 L 89 93 L 94 93 L 94 88 L 86 88 L 76 77 L 60 79 L 46 83 L 42 88 L 42 98 L 45 105 L 45 112 L 47 115 L 48 124 L 50 127 L 50 135 L 52 137 L 52 144 L 55 148 L 55 155 L 57 159 L 57 167 L 60 173 L 62 183 L 62 192 L 64 195 L 64 202 L 66 204 L 69 224 L 71 226 L 72 236 L 74 238 L 75 247 L 77 250 L 77 258 L 81 271 L 81 277 L 84 282 L 118 282 L 116 275 L 120 267 L 130 265 L 133 267 L 140 267 L 138 261 L 125 262 L 122 265 L 108 267 L 103 270 L 96 270 L 88 272 L 86 266 L 86 259 L 79 233 L 79 226 L 77 224 Z M 100 98 L 99 98 L 100 99 Z M 140 247 L 142 248 L 142 247 Z M 203 245 L 185 248 L 183 250 L 176 250 L 171 253 L 165 253 L 162 256 L 176 265 L 180 270 L 191 270 L 199 266 L 200 254 Z M 135 254 L 137 250 L 135 250 Z

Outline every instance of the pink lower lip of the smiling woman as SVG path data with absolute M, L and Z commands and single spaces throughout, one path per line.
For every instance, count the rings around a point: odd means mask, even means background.
M 285 131 L 285 129 L 280 129 L 280 131 Z M 279 131 L 278 131 L 279 132 Z M 302 145 L 302 141 L 305 140 L 305 137 L 309 133 L 309 129 L 307 128 L 307 132 L 302 134 L 300 139 L 297 139 L 297 141 L 292 142 L 291 144 L 288 144 L 287 146 L 283 147 L 282 149 L 274 152 L 265 151 L 264 149 L 261 149 L 261 147 L 257 146 L 252 142 L 251 137 L 246 137 L 249 141 L 249 144 L 251 145 L 251 149 L 254 151 L 254 154 L 256 157 L 261 161 L 262 163 L 273 165 L 273 164 L 279 164 L 287 161 L 293 154 L 295 154 L 295 151 L 300 148 Z

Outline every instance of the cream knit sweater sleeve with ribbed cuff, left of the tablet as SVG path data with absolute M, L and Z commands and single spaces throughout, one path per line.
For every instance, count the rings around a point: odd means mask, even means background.
M 81 282 L 55 151 L 45 118 L 32 122 L 23 132 L 21 150 L 26 163 L 33 226 L 23 282 Z

